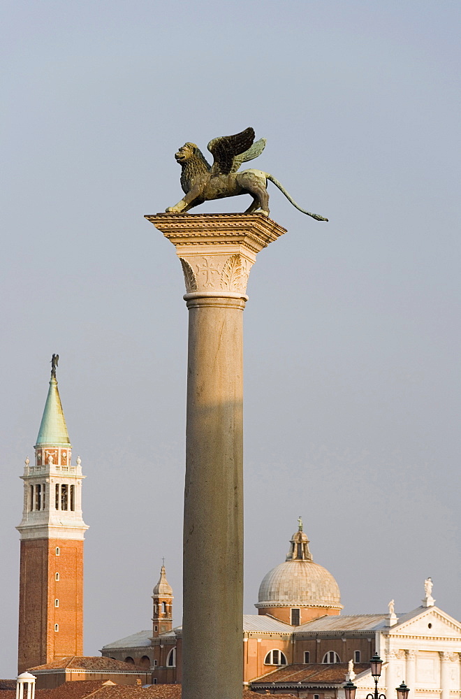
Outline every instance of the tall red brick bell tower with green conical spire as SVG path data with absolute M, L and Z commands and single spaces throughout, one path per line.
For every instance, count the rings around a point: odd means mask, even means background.
M 82 468 L 71 465 L 71 442 L 56 380 L 35 445 L 25 461 L 21 535 L 18 673 L 55 658 L 83 654 Z

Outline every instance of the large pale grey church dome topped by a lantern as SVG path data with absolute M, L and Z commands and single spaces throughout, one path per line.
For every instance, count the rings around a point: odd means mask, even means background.
M 342 610 L 338 584 L 326 568 L 312 561 L 309 539 L 299 521 L 285 563 L 272 568 L 261 582 L 256 607 L 294 605 Z

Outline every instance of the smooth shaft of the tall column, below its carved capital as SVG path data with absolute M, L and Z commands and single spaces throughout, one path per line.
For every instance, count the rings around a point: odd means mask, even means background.
M 240 699 L 244 299 L 187 305 L 182 693 Z

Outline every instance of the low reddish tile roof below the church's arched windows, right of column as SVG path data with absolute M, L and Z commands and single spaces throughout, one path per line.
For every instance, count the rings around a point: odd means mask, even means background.
M 369 663 L 356 663 L 353 666 L 356 675 L 360 672 L 369 670 Z M 251 682 L 251 686 L 259 684 L 288 684 L 299 682 L 306 684 L 344 684 L 346 682 L 346 673 L 349 670 L 349 663 L 332 663 L 327 665 L 324 663 L 309 663 L 309 665 L 286 665 L 285 668 L 279 668 L 269 672 L 264 677 L 259 677 Z

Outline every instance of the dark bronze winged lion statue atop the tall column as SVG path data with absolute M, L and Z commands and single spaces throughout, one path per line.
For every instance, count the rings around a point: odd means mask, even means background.
M 211 166 L 195 143 L 184 143 L 175 154 L 175 158 L 182 168 L 181 187 L 186 196 L 175 206 L 168 207 L 166 212 L 182 214 L 204 201 L 223 199 L 226 196 L 237 196 L 237 194 L 250 194 L 253 201 L 245 213 L 258 212 L 268 216 L 267 186 L 270 180 L 303 214 L 312 216 L 316 221 L 328 221 L 323 216 L 305 211 L 298 206 L 274 175 L 262 170 L 237 172 L 242 163 L 257 158 L 264 150 L 265 138 L 260 138 L 254 143 L 254 136 L 254 129 L 249 127 L 240 134 L 220 136 L 210 140 L 208 150 L 214 157 Z

